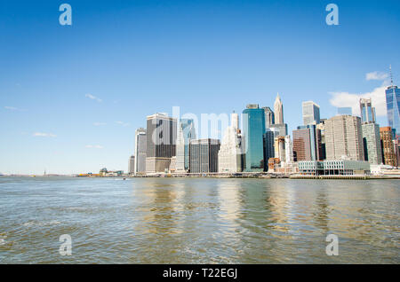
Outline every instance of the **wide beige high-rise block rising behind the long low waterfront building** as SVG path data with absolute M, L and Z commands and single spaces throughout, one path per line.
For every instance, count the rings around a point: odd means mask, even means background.
M 361 119 L 337 115 L 325 122 L 326 159 L 364 161 Z

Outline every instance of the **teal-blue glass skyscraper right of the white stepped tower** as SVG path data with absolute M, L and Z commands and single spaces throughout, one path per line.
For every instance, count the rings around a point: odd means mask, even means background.
M 264 170 L 263 136 L 264 110 L 258 105 L 247 106 L 243 111 L 244 171 Z

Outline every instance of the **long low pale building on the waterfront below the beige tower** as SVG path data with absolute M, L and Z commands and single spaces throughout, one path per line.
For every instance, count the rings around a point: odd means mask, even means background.
M 370 173 L 368 161 L 299 161 L 299 173 L 308 176 L 353 176 Z

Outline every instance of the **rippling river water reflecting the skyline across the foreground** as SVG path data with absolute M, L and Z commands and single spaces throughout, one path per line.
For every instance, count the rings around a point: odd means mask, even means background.
M 399 263 L 398 186 L 1 177 L 0 263 Z M 339 256 L 325 255 L 328 234 Z

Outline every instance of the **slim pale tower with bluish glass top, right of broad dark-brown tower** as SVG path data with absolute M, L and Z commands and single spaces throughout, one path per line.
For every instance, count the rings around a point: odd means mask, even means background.
M 195 124 L 192 119 L 181 119 L 176 139 L 176 172 L 189 170 L 190 140 L 196 139 Z

